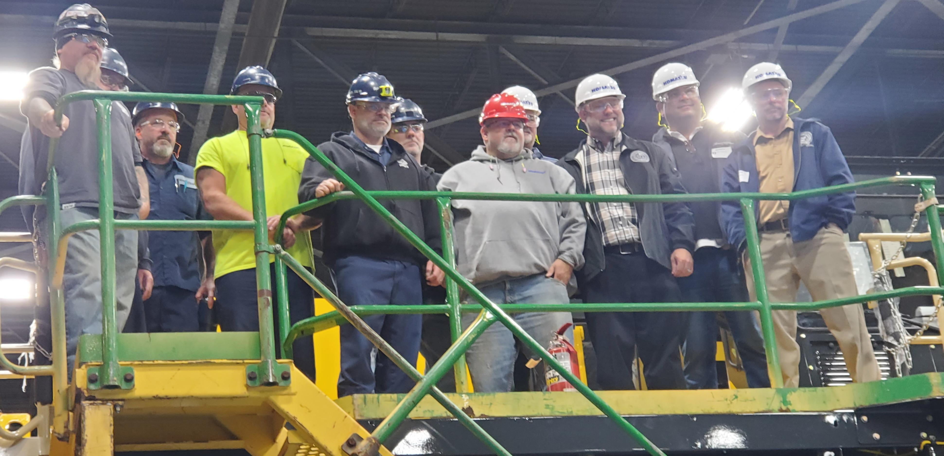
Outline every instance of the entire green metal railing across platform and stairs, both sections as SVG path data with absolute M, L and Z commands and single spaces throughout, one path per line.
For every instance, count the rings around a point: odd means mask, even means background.
M 766 281 L 764 276 L 763 264 L 760 261 L 760 249 L 758 244 L 758 235 L 756 221 L 754 219 L 753 204 L 754 200 L 796 200 L 810 196 L 823 194 L 835 194 L 840 192 L 849 192 L 867 187 L 876 187 L 883 185 L 917 185 L 921 194 L 925 198 L 934 196 L 935 178 L 934 177 L 885 177 L 879 179 L 867 180 L 854 184 L 840 185 L 830 188 L 796 192 L 792 194 L 638 194 L 638 195 L 591 195 L 591 194 L 472 194 L 472 193 L 438 193 L 438 192 L 366 192 L 353 181 L 350 177 L 328 160 L 314 145 L 297 133 L 286 130 L 270 130 L 263 132 L 259 124 L 259 110 L 261 106 L 261 97 L 254 96 L 226 96 L 226 95 L 200 95 L 200 94 L 175 94 L 175 93 L 114 93 L 83 91 L 79 93 L 70 93 L 60 98 L 56 107 L 56 118 L 61 118 L 61 112 L 64 106 L 72 102 L 91 100 L 96 112 L 98 140 L 100 150 L 99 160 L 99 218 L 76 223 L 70 227 L 60 227 L 59 219 L 59 189 L 57 172 L 54 163 L 54 153 L 57 142 L 50 144 L 48 181 L 43 189 L 42 196 L 15 196 L 0 202 L 0 211 L 14 205 L 37 204 L 46 206 L 47 216 L 43 229 L 47 233 L 46 238 L 50 240 L 47 245 L 48 258 L 50 263 L 55 261 L 54 267 L 48 268 L 48 282 L 51 300 L 51 327 L 53 335 L 53 365 L 52 366 L 15 366 L 3 357 L 0 357 L 0 363 L 12 372 L 23 373 L 25 375 L 52 375 L 54 379 L 54 406 L 56 416 L 54 419 L 54 431 L 64 434 L 65 424 L 68 416 L 68 410 L 71 407 L 66 397 L 68 389 L 67 366 L 65 363 L 65 328 L 64 328 L 64 303 L 62 294 L 62 273 L 65 261 L 65 253 L 68 247 L 68 239 L 72 234 L 89 229 L 98 229 L 101 235 L 101 260 L 102 260 L 102 299 L 103 299 L 103 322 L 102 322 L 102 361 L 100 366 L 93 366 L 88 370 L 87 379 L 90 389 L 97 388 L 133 388 L 134 375 L 129 366 L 122 366 L 118 362 L 117 351 L 117 332 L 116 310 L 115 310 L 115 277 L 114 277 L 114 229 L 146 229 L 146 230 L 204 230 L 204 229 L 252 229 L 254 234 L 254 251 L 256 255 L 256 275 L 258 288 L 258 307 L 259 307 L 259 338 L 260 338 L 260 363 L 250 364 L 246 368 L 246 382 L 249 386 L 269 386 L 285 385 L 291 380 L 288 377 L 282 377 L 281 373 L 286 372 L 290 366 L 279 364 L 276 356 L 277 341 L 274 340 L 273 330 L 273 293 L 271 279 L 269 274 L 270 255 L 274 256 L 276 264 L 275 280 L 278 288 L 285 289 L 287 283 L 288 269 L 292 269 L 302 279 L 304 279 L 321 296 L 325 297 L 335 308 L 335 312 L 308 318 L 290 326 L 288 317 L 288 297 L 285 293 L 277 293 L 276 301 L 279 312 L 279 322 L 281 329 L 278 348 L 286 357 L 292 355 L 292 343 L 298 337 L 311 334 L 317 330 L 326 329 L 346 321 L 359 329 L 374 345 L 378 346 L 388 358 L 403 369 L 416 385 L 413 390 L 407 394 L 396 406 L 395 410 L 387 416 L 379 426 L 372 432 L 371 437 L 364 439 L 357 445 L 353 453 L 368 454 L 372 449 L 387 441 L 396 427 L 402 423 L 419 402 L 422 397 L 431 395 L 441 403 L 448 412 L 453 414 L 466 428 L 472 431 L 480 440 L 491 448 L 497 454 L 509 454 L 507 450 L 501 447 L 487 432 L 483 431 L 475 420 L 464 414 L 460 408 L 451 402 L 441 391 L 435 387 L 435 383 L 440 380 L 447 371 L 452 370 L 456 377 L 459 392 L 468 392 L 469 387 L 465 380 L 464 352 L 471 346 L 480 334 L 491 324 L 500 321 L 508 327 L 514 335 L 525 345 L 529 346 L 535 353 L 539 353 L 550 367 L 557 369 L 565 380 L 569 381 L 580 393 L 593 403 L 603 414 L 611 418 L 614 423 L 623 431 L 626 431 L 633 440 L 649 451 L 650 454 L 663 454 L 659 448 L 656 448 L 641 432 L 636 430 L 620 414 L 604 402 L 596 393 L 590 390 L 581 380 L 574 376 L 568 369 L 565 369 L 553 357 L 549 356 L 542 344 L 535 341 L 521 329 L 509 313 L 514 312 L 645 312 L 645 311 L 757 311 L 761 316 L 761 326 L 765 338 L 765 350 L 767 353 L 768 374 L 771 384 L 774 387 L 783 387 L 783 377 L 781 375 L 780 363 L 778 362 L 777 351 L 774 346 L 773 325 L 771 312 L 774 310 L 817 310 L 827 307 L 842 306 L 863 301 L 862 296 L 852 296 L 842 299 L 832 299 L 829 301 L 819 301 L 813 303 L 771 303 L 767 296 Z M 115 220 L 112 205 L 112 169 L 111 169 L 111 151 L 110 151 L 110 107 L 111 101 L 172 101 L 176 103 L 189 104 L 214 104 L 214 105 L 243 105 L 247 117 L 247 130 L 249 142 L 249 168 L 252 185 L 252 213 L 253 221 L 155 221 L 155 220 Z M 269 244 L 266 228 L 266 211 L 264 200 L 264 186 L 262 182 L 261 168 L 261 139 L 264 136 L 274 136 L 276 138 L 292 140 L 309 152 L 313 160 L 317 160 L 335 177 L 346 185 L 349 191 L 330 194 L 326 197 L 305 202 L 286 211 L 281 218 L 281 227 L 277 229 L 277 235 L 280 237 L 282 228 L 286 220 L 298 213 L 312 210 L 316 207 L 329 204 L 333 201 L 344 199 L 361 199 L 364 204 L 370 207 L 388 223 L 390 223 L 397 232 L 403 235 L 415 248 L 422 252 L 431 262 L 439 266 L 447 275 L 447 302 L 443 305 L 403 305 L 403 306 L 355 306 L 348 307 L 341 302 L 324 283 L 316 279 L 311 272 L 301 266 L 301 264 L 285 252 L 279 245 L 277 238 L 275 244 Z M 389 211 L 383 208 L 378 202 L 379 199 L 404 198 L 404 199 L 434 199 L 439 209 L 439 217 L 442 222 L 443 252 L 441 256 L 433 251 L 429 245 L 426 245 L 409 228 L 406 228 Z M 745 218 L 745 227 L 747 228 L 747 247 L 750 257 L 750 265 L 755 279 L 754 287 L 757 300 L 753 302 L 717 302 L 717 303 L 586 303 L 586 304 L 504 304 L 497 305 L 490 301 L 486 296 L 464 279 L 455 268 L 455 258 L 453 256 L 453 240 L 451 237 L 451 211 L 450 200 L 452 199 L 479 199 L 479 200 L 515 200 L 515 201 L 576 201 L 576 202 L 672 202 L 672 201 L 704 201 L 704 200 L 737 200 L 741 205 Z M 938 264 L 944 264 L 944 243 L 941 239 L 941 225 L 936 205 L 930 205 L 926 209 L 929 223 L 932 245 L 935 258 Z M 937 271 L 938 279 L 944 283 L 944 271 Z M 464 290 L 465 294 L 470 296 L 478 304 L 461 304 L 459 302 L 459 290 Z M 914 296 L 914 295 L 944 295 L 944 287 L 908 287 L 869 295 L 869 299 L 885 298 L 892 296 Z M 399 353 L 389 344 L 380 338 L 379 334 L 370 329 L 359 315 L 374 313 L 430 313 L 445 312 L 450 319 L 450 333 L 453 339 L 453 345 L 442 356 L 439 362 L 430 366 L 426 376 L 421 375 Z M 467 328 L 462 328 L 461 315 L 463 312 L 479 312 L 479 317 Z M 94 376 L 94 378 L 93 378 Z M 339 438 L 346 438 L 341 436 Z

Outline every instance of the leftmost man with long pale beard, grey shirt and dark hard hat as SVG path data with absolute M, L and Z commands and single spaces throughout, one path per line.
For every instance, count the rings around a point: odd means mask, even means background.
M 34 185 L 25 189 L 36 194 L 46 179 L 47 151 L 59 139 L 54 165 L 58 172 L 59 210 L 62 227 L 98 218 L 98 138 L 92 101 L 69 104 L 62 111 L 61 123 L 54 118 L 53 107 L 66 93 L 97 89 L 101 77 L 99 64 L 102 52 L 111 39 L 108 23 L 101 11 L 88 4 L 76 4 L 59 15 L 53 28 L 56 42 L 55 68 L 42 67 L 32 71 L 24 87 L 20 110 L 29 121 L 33 145 Z M 141 163 L 141 152 L 134 141 L 131 116 L 120 102 L 111 104 L 111 157 L 113 163 L 112 192 L 114 217 L 135 220 L 140 207 L 140 188 L 135 165 Z M 45 245 L 50 242 L 44 232 L 46 209 L 34 215 L 37 229 L 38 260 L 48 264 Z M 67 363 L 74 365 L 78 337 L 102 331 L 101 255 L 98 230 L 80 231 L 69 238 L 62 287 L 65 295 Z M 53 241 L 55 242 L 55 241 Z M 118 329 L 125 326 L 134 296 L 134 275 L 138 269 L 138 233 L 120 229 L 115 232 L 116 321 Z M 37 310 L 36 351 L 49 354 L 49 313 Z

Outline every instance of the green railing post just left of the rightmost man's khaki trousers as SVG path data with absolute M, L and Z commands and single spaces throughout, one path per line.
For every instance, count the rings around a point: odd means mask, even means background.
M 764 333 L 764 352 L 767 354 L 767 375 L 770 386 L 784 387 L 784 374 L 780 368 L 780 355 L 777 352 L 777 339 L 773 332 L 773 311 L 767 296 L 767 277 L 764 275 L 764 261 L 761 258 L 760 238 L 757 234 L 757 219 L 754 216 L 754 201 L 741 199 L 741 212 L 744 214 L 745 240 L 748 243 L 750 270 L 754 278 L 754 294 L 761 303 L 761 331 Z

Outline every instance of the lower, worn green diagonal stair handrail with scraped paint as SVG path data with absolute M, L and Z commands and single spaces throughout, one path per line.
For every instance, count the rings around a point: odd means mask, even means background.
M 341 302 L 341 299 L 338 298 L 338 296 L 336 296 L 334 293 L 332 293 L 331 290 L 327 286 L 325 286 L 324 283 L 321 282 L 321 280 L 318 280 L 317 278 L 315 278 L 314 275 L 311 272 L 309 272 L 307 269 L 305 269 L 305 267 L 302 266 L 300 262 L 295 260 L 295 258 L 292 258 L 292 256 L 289 255 L 288 252 L 285 252 L 284 250 L 282 250 L 281 246 L 279 245 L 276 246 L 276 252 L 277 252 L 278 258 L 283 259 L 283 261 L 289 267 L 291 267 L 292 270 L 295 271 L 299 277 L 301 277 L 301 279 L 305 280 L 306 283 L 312 286 L 312 288 L 314 289 L 315 292 L 318 293 L 318 295 L 321 295 L 322 297 L 324 297 L 329 302 L 329 304 L 331 304 L 331 306 L 333 306 L 334 309 L 337 310 L 337 312 L 344 315 L 345 319 L 352 326 L 360 330 L 363 333 L 364 337 L 366 337 L 367 340 L 371 342 L 371 344 L 373 344 L 374 346 L 377 346 L 377 348 L 379 349 L 381 353 L 383 353 L 384 355 L 387 356 L 388 359 L 393 361 L 400 369 L 403 370 L 403 372 L 405 372 L 408 376 L 410 376 L 410 378 L 413 379 L 413 381 L 423 380 L 423 375 L 420 374 L 419 371 L 417 371 L 415 367 L 413 367 L 413 364 L 407 361 L 406 358 L 403 358 L 402 356 L 400 356 L 400 354 L 396 352 L 394 347 L 390 346 L 390 344 L 387 344 L 387 342 L 384 341 L 382 337 L 380 337 L 377 331 L 375 331 L 374 329 L 371 329 L 370 326 L 364 323 L 361 317 L 357 316 L 357 314 L 355 314 L 354 312 L 351 312 L 350 308 L 347 307 L 347 305 L 344 302 Z M 290 346 L 287 346 L 285 349 L 286 351 L 289 351 L 290 348 L 291 348 Z M 436 380 L 439 380 L 439 379 L 437 378 Z M 485 444 L 488 448 L 491 448 L 492 451 L 495 451 L 495 454 L 502 455 L 502 456 L 511 456 L 511 453 L 509 453 L 508 450 L 503 448 L 501 444 L 499 444 L 494 438 L 492 438 L 491 435 L 488 434 L 488 432 L 481 429 L 478 423 L 476 423 L 471 417 L 469 417 L 469 415 L 465 414 L 465 412 L 463 412 L 463 410 L 460 409 L 458 405 L 454 404 L 451 400 L 449 400 L 449 398 L 446 397 L 446 395 L 444 395 L 443 392 L 439 390 L 439 388 L 436 388 L 435 381 L 433 381 L 432 385 L 433 386 L 430 389 L 430 396 L 432 396 L 434 399 L 436 399 L 437 402 L 442 404 L 443 408 L 445 408 L 450 414 L 455 416 L 456 419 L 460 423 L 462 423 L 466 429 L 468 429 L 469 431 L 472 431 L 472 433 L 476 437 L 478 437 L 479 440 L 481 440 L 483 444 Z M 368 443 L 364 445 L 370 445 L 370 442 L 369 442 L 370 439 L 374 439 L 374 437 L 365 439 L 365 441 L 368 441 Z

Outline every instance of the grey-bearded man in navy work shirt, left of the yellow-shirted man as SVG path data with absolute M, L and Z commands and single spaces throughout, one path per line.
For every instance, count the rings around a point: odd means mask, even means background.
M 194 182 L 194 167 L 177 160 L 175 144 L 183 113 L 174 103 L 138 103 L 134 133 L 141 144 L 152 211 L 148 220 L 210 220 Z M 215 257 L 209 231 L 151 231 L 153 288 L 144 300 L 147 332 L 200 329 L 198 306 L 212 306 Z M 200 270 L 199 256 L 206 269 Z M 202 277 L 202 279 L 201 279 Z

